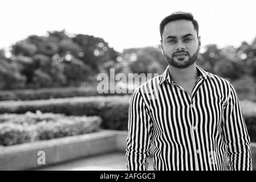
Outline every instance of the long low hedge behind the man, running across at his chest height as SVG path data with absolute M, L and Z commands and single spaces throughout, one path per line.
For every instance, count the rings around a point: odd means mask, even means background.
M 127 130 L 130 96 L 76 97 L 40 101 L 2 101 L 0 113 L 62 113 L 66 115 L 98 115 L 103 129 Z M 256 142 L 256 104 L 240 101 L 243 117 L 251 137 Z

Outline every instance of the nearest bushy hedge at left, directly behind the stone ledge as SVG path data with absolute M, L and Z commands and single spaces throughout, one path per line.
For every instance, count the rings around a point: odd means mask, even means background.
M 0 115 L 0 121 L 0 145 L 10 146 L 91 133 L 99 129 L 101 118 L 28 112 L 26 114 L 3 114 Z

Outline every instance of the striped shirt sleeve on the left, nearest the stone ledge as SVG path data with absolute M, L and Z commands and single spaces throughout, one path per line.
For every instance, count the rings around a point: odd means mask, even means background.
M 139 89 L 133 92 L 129 104 L 126 167 L 146 171 L 151 149 L 151 116 Z

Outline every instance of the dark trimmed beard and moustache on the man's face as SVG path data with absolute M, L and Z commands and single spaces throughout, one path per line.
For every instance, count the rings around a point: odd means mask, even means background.
M 172 57 L 166 55 L 164 52 L 164 57 L 169 65 L 172 65 L 173 67 L 178 69 L 184 69 L 184 68 L 188 68 L 194 62 L 196 62 L 199 51 L 200 51 L 200 47 L 198 46 L 197 51 L 192 56 L 190 56 L 189 52 L 187 51 L 176 51 L 176 52 L 173 52 Z M 175 56 L 176 53 L 186 53 L 186 56 L 188 56 L 188 59 L 177 58 Z

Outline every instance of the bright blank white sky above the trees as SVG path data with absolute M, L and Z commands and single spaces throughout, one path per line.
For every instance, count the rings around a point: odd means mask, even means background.
M 103 38 L 119 52 L 158 46 L 159 24 L 175 11 L 194 15 L 202 46 L 238 47 L 256 38 L 255 5 L 255 0 L 3 0 L 0 48 L 61 30 Z

